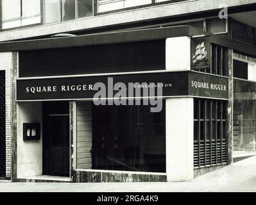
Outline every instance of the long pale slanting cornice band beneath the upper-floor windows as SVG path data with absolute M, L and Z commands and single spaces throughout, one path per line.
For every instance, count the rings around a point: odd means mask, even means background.
M 149 20 L 160 20 L 170 17 L 178 18 L 191 13 L 207 11 L 218 13 L 218 10 L 220 9 L 219 6 L 223 3 L 230 8 L 229 12 L 232 12 L 232 10 L 237 9 L 237 6 L 241 7 L 247 5 L 248 8 L 252 8 L 253 5 L 255 6 L 256 0 L 196 0 L 175 4 L 161 4 L 137 10 L 108 13 L 106 15 L 88 17 L 86 19 L 77 19 L 67 22 L 59 22 L 56 24 L 44 24 L 40 26 L 31 26 L 29 28 L 17 28 L 9 31 L 1 31 L 0 42 L 47 37 L 56 33 L 89 31 L 93 29 L 108 28 L 110 26 L 146 22 Z

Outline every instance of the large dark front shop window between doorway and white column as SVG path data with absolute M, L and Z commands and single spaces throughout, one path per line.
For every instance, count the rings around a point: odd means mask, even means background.
M 77 102 L 77 168 L 166 172 L 165 105 L 95 106 Z

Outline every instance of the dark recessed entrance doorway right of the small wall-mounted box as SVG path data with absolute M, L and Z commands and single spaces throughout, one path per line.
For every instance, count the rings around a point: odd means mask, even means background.
M 43 103 L 43 175 L 69 176 L 69 101 Z

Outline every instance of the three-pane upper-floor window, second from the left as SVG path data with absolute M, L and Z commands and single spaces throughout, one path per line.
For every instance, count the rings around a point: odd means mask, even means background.
M 46 24 L 92 15 L 93 0 L 44 0 Z

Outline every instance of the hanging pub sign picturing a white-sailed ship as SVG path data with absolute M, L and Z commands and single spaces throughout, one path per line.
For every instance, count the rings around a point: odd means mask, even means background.
M 191 69 L 210 69 L 210 38 L 192 38 L 191 40 Z

